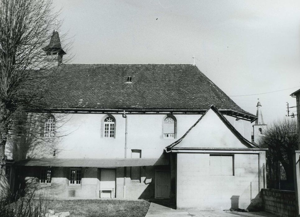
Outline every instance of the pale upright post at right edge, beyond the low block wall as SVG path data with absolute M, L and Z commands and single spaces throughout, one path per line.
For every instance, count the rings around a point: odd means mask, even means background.
M 296 150 L 293 157 L 294 184 L 296 196 L 296 216 L 300 216 L 300 150 Z

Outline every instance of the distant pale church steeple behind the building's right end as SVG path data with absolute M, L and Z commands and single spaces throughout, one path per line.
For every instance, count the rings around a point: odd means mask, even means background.
M 258 102 L 256 110 L 257 119 L 255 120 L 255 124 L 253 124 L 253 132 L 252 132 L 252 142 L 254 144 L 260 145 L 262 143 L 262 137 L 264 136 L 267 125 L 264 122 L 264 118 L 261 113 L 261 103 Z

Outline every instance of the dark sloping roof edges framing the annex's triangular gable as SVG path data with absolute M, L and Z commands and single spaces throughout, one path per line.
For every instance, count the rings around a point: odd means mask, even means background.
M 243 144 L 245 144 L 248 148 L 257 148 L 254 144 L 252 144 L 250 141 L 248 141 L 246 138 L 244 138 L 235 128 L 234 126 L 232 126 L 232 124 L 224 117 L 224 115 L 222 115 L 218 109 L 214 106 L 211 105 L 207 111 L 190 127 L 190 129 L 187 130 L 187 132 L 177 141 L 173 142 L 172 144 L 168 145 L 165 150 L 170 151 L 172 150 L 172 148 L 174 148 L 178 143 L 180 143 L 182 141 L 182 139 L 184 139 L 184 137 L 186 137 L 186 135 L 201 121 L 201 119 L 205 116 L 205 114 L 212 109 L 224 122 L 224 124 L 226 124 L 228 126 L 228 128 L 232 131 L 232 133 L 234 135 L 236 135 Z

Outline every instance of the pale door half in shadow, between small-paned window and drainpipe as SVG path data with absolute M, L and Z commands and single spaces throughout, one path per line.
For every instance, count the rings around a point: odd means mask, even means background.
M 116 186 L 116 170 L 101 169 L 100 173 L 100 197 L 113 198 Z

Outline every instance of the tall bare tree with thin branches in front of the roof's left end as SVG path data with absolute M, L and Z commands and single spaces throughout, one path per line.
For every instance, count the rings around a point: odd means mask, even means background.
M 43 128 L 35 112 L 48 108 L 45 96 L 62 57 L 47 47 L 60 25 L 53 11 L 51 0 L 0 0 L 0 179 L 7 141 L 33 138 L 32 126 Z

